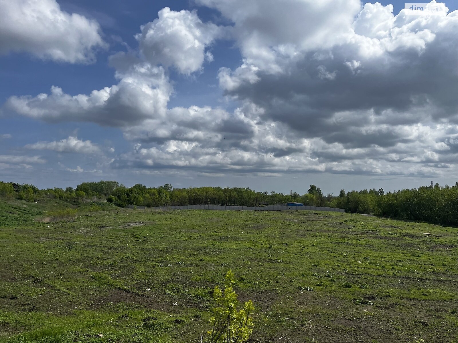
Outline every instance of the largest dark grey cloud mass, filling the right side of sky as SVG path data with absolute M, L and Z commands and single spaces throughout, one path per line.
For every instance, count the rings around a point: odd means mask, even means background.
M 238 70 L 231 75 L 223 70 L 221 85 L 227 95 L 264 108 L 264 118 L 288 124 L 298 135 L 323 137 L 328 143 L 392 146 L 406 141 L 396 130 L 366 135 L 359 134 L 359 129 L 366 126 L 376 131 L 379 124 L 414 124 L 425 118 L 455 121 L 458 98 L 453 90 L 458 88 L 458 77 L 448 66 L 458 63 L 458 17 L 402 22 L 398 19 L 402 13 L 395 17 L 391 10 L 392 6 L 367 4 L 362 12 L 365 15 L 356 21 L 356 26 L 371 32 L 367 33 L 370 37 L 378 35 L 377 40 L 349 34 L 326 49 L 302 53 L 296 46 L 294 59 L 275 52 L 280 72 L 266 67 L 262 59 L 251 59 L 254 71 L 250 78 Z M 232 15 L 229 9 L 225 11 Z M 365 17 L 364 25 L 361 17 Z M 246 24 L 234 20 L 236 25 Z M 374 27 L 378 31 L 373 31 Z M 390 31 L 395 29 L 397 36 Z M 271 33 L 267 30 L 266 34 Z M 260 36 L 257 44 L 264 46 L 268 41 Z M 247 65 L 241 67 L 246 69 Z M 357 122 L 333 123 L 336 113 L 345 111 Z M 361 115 L 364 112 L 372 112 L 372 117 Z

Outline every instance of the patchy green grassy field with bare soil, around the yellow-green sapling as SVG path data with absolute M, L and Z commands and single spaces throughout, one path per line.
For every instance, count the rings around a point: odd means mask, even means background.
M 65 207 L 0 202 L 1 342 L 200 342 L 229 269 L 256 305 L 250 342 L 458 342 L 456 228 L 312 211 L 36 220 Z

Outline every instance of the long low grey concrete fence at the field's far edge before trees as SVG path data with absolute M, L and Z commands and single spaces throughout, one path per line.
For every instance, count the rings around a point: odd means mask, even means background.
M 129 209 L 133 209 L 134 205 L 129 205 Z M 169 211 L 173 209 L 213 209 L 217 211 L 285 211 L 285 210 L 312 210 L 312 211 L 331 211 L 331 212 L 345 212 L 344 209 L 334 209 L 332 207 L 322 206 L 284 206 L 284 205 L 272 205 L 272 206 L 220 206 L 220 205 L 185 205 L 185 206 L 156 206 L 156 207 L 145 207 L 136 206 L 136 209 L 151 209 L 151 210 L 162 210 Z

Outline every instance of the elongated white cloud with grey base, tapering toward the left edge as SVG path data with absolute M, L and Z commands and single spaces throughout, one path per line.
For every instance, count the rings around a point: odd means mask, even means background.
M 53 86 L 50 94 L 11 96 L 4 107 L 52 123 L 93 122 L 104 126 L 132 125 L 165 115 L 172 87 L 163 68 L 133 64 L 117 76 L 121 79 L 117 85 L 89 95 L 71 96 Z

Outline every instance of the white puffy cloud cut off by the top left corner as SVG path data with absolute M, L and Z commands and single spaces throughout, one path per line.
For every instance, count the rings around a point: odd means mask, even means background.
M 90 63 L 105 47 L 96 21 L 62 11 L 55 0 L 0 0 L 0 54 Z

